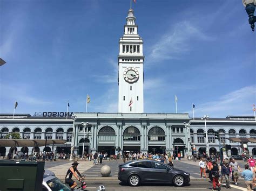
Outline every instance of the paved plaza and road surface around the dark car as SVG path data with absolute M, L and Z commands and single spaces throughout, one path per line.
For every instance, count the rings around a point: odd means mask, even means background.
M 86 176 L 86 182 L 88 185 L 88 190 L 95 190 L 99 185 L 104 185 L 107 187 L 107 190 L 134 190 L 130 186 L 122 184 L 118 178 L 118 165 L 123 164 L 123 160 L 103 160 L 102 165 L 97 164 L 93 165 L 93 161 L 84 161 L 80 160 L 79 162 L 79 172 Z M 142 190 L 167 190 L 170 188 L 172 190 L 187 190 L 187 189 L 200 189 L 200 190 L 207 190 L 211 188 L 211 183 L 208 182 L 208 179 L 201 179 L 200 172 L 198 167 L 199 161 L 190 161 L 190 160 L 174 160 L 174 167 L 178 169 L 183 169 L 186 172 L 191 174 L 191 182 L 190 186 L 186 187 L 173 187 L 172 185 L 142 185 L 139 189 Z M 244 169 L 245 162 L 238 161 L 240 167 Z M 53 162 L 45 162 L 45 168 L 49 169 L 50 171 L 54 172 L 56 176 L 64 181 L 66 171 L 71 166 L 71 161 L 60 160 L 60 161 L 53 161 Z M 109 165 L 111 167 L 111 174 L 108 177 L 103 177 L 100 174 L 100 168 L 103 165 Z M 232 182 L 232 181 L 231 181 Z M 242 178 L 238 181 L 239 185 L 235 186 L 233 183 L 231 184 L 232 189 L 230 190 L 246 190 L 244 186 L 244 181 Z M 137 189 L 137 188 L 136 188 Z M 136 190 L 135 189 L 135 190 Z M 225 189 L 223 187 L 223 189 Z

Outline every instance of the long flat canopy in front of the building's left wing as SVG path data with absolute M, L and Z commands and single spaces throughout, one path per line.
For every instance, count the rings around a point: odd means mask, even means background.
M 46 145 L 62 145 L 66 140 L 62 139 L 48 139 Z M 41 139 L 0 139 L 0 146 L 44 146 L 45 140 Z

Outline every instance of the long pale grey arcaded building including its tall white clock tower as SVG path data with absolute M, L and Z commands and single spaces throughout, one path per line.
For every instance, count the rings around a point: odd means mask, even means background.
M 16 147 L 29 154 L 39 151 L 76 154 L 88 152 L 180 152 L 181 155 L 196 152 L 219 152 L 219 140 L 214 131 L 220 132 L 221 143 L 230 144 L 228 155 L 241 154 L 240 143 L 226 138 L 256 138 L 256 121 L 253 116 L 227 116 L 224 118 L 191 119 L 188 114 L 144 113 L 143 90 L 143 39 L 130 9 L 119 39 L 118 54 L 118 112 L 42 112 L 30 114 L 0 114 L 0 138 L 10 132 L 19 132 L 22 139 L 64 139 L 65 144 L 46 147 Z M 68 115 L 68 117 L 66 117 Z M 188 125 L 190 124 L 190 125 Z M 205 137 L 207 133 L 207 139 Z M 0 154 L 12 153 L 14 147 L 0 145 Z M 248 143 L 248 151 L 256 155 L 256 143 Z

